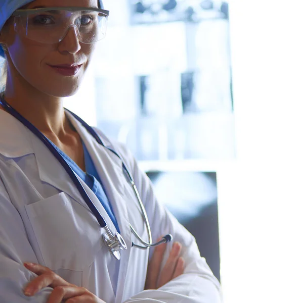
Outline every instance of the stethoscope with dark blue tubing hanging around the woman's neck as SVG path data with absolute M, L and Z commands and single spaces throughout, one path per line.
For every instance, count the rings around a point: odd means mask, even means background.
M 60 162 L 60 164 L 66 170 L 66 172 L 68 173 L 68 175 L 72 179 L 73 183 L 77 187 L 77 189 L 78 189 L 79 193 L 81 194 L 82 198 L 84 199 L 85 203 L 87 204 L 87 206 L 89 207 L 89 209 L 92 211 L 92 213 L 94 214 L 94 216 L 97 218 L 100 226 L 105 229 L 105 233 L 103 233 L 102 238 L 103 238 L 104 242 L 106 243 L 107 247 L 109 248 L 109 251 L 111 252 L 112 256 L 114 258 L 116 258 L 117 260 L 120 260 L 120 250 L 121 249 L 123 249 L 123 250 L 127 249 L 127 246 L 126 246 L 126 243 L 125 243 L 123 237 L 118 232 L 116 232 L 113 235 L 113 233 L 109 229 L 106 221 L 101 216 L 99 210 L 94 205 L 93 201 L 89 197 L 89 195 L 86 192 L 86 190 L 83 188 L 81 182 L 79 181 L 78 177 L 73 172 L 73 170 L 71 169 L 71 167 L 68 165 L 68 163 L 59 154 L 59 152 L 56 150 L 56 148 L 51 144 L 51 142 L 49 141 L 49 139 L 44 134 L 42 134 L 33 124 L 31 124 L 28 120 L 26 120 L 23 116 L 21 116 L 16 110 L 14 110 L 6 102 L 6 100 L 4 98 L 4 93 L 0 94 L 0 105 L 2 105 L 7 110 L 8 113 L 10 113 L 12 116 L 14 116 L 17 120 L 19 120 L 32 133 L 34 133 L 48 147 L 48 149 L 51 151 L 51 153 L 53 154 L 53 156 Z M 152 243 L 151 229 L 150 229 L 150 225 L 149 225 L 149 222 L 148 222 L 148 217 L 147 217 L 144 205 L 143 205 L 142 200 L 140 198 L 138 189 L 137 189 L 137 187 L 135 185 L 133 176 L 131 175 L 130 171 L 127 169 L 127 167 L 124 164 L 123 160 L 116 153 L 116 151 L 114 151 L 112 148 L 109 148 L 109 147 L 107 147 L 107 146 L 104 145 L 104 143 L 102 142 L 100 136 L 96 133 L 96 131 L 91 126 L 89 126 L 85 121 L 83 121 L 81 118 L 79 118 L 76 114 L 72 113 L 71 111 L 69 111 L 67 109 L 65 109 L 65 110 L 68 111 L 75 119 L 77 119 L 88 130 L 88 132 L 97 140 L 97 142 L 99 144 L 101 144 L 102 146 L 104 146 L 108 150 L 112 151 L 112 153 L 115 154 L 122 161 L 122 168 L 126 172 L 126 175 L 129 177 L 130 183 L 131 183 L 131 185 L 132 185 L 132 187 L 134 189 L 135 195 L 136 195 L 136 197 L 138 199 L 138 202 L 139 202 L 139 205 L 140 205 L 140 208 L 141 208 L 141 211 L 142 211 L 142 217 L 143 217 L 143 220 L 145 222 L 146 230 L 147 230 L 147 234 L 148 234 L 148 238 L 149 238 L 149 242 L 144 241 L 139 236 L 139 234 L 137 233 L 137 231 L 130 224 L 130 228 L 131 228 L 132 233 L 144 245 L 144 246 L 142 246 L 142 245 L 138 245 L 138 244 L 135 244 L 134 242 L 132 242 L 132 247 L 135 246 L 135 247 L 140 248 L 140 249 L 148 249 L 149 247 L 153 247 L 153 246 L 157 246 L 157 245 L 162 244 L 162 243 L 170 242 L 173 239 L 173 237 L 172 237 L 172 235 L 167 234 L 164 237 L 162 237 L 162 239 L 160 241 L 158 241 L 156 243 Z

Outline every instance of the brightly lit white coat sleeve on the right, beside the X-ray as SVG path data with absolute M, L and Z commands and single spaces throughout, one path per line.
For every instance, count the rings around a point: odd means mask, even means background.
M 174 241 L 183 245 L 181 256 L 185 260 L 184 274 L 169 281 L 157 290 L 144 290 L 124 303 L 130 302 L 165 302 L 165 303 L 220 303 L 222 295 L 220 284 L 207 266 L 205 259 L 200 256 L 195 238 L 158 203 L 151 181 L 138 168 L 138 164 L 129 151 L 122 145 L 119 152 L 124 162 L 133 173 L 136 186 L 145 205 L 153 241 L 161 235 L 172 234 Z M 162 266 L 165 264 L 172 244 L 167 245 Z M 152 249 L 152 248 L 151 248 Z M 152 255 L 152 251 L 151 254 Z

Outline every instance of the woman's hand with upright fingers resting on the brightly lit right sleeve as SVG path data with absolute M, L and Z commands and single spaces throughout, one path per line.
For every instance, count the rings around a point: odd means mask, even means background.
M 179 258 L 182 245 L 179 242 L 175 242 L 159 278 L 165 248 L 166 243 L 155 247 L 153 256 L 147 268 L 145 289 L 158 289 L 184 273 L 185 262 L 182 257 Z

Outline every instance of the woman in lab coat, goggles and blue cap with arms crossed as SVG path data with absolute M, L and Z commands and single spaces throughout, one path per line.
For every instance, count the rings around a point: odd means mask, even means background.
M 0 301 L 220 302 L 219 283 L 193 236 L 158 203 L 129 151 L 63 108 L 62 98 L 76 92 L 104 37 L 102 3 L 0 4 L 7 61 L 0 110 Z M 150 252 L 137 247 L 143 245 L 130 224 L 145 241 L 150 236 L 128 173 L 153 241 L 171 233 L 173 245 Z M 121 234 L 126 249 L 123 244 L 110 254 L 102 237 L 107 228 Z

